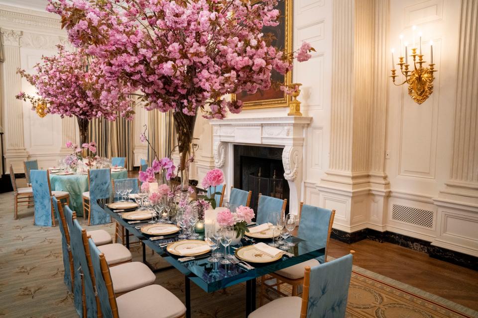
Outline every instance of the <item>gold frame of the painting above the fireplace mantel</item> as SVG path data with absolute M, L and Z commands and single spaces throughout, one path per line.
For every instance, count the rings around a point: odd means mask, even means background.
M 252 4 L 259 2 L 259 0 L 251 1 Z M 278 39 L 278 47 L 280 50 L 285 48 L 286 53 L 292 52 L 292 0 L 281 0 L 277 4 L 277 8 L 280 11 L 280 22 L 279 25 L 274 27 L 267 27 L 269 29 L 278 28 L 275 35 L 277 37 L 282 35 L 284 36 L 283 41 Z M 267 30 L 266 32 L 274 32 L 273 30 Z M 277 45 L 275 45 L 277 46 Z M 283 48 L 282 48 L 283 46 Z M 272 78 L 281 77 L 280 79 L 285 82 L 286 85 L 292 83 L 292 72 L 289 71 L 285 75 L 280 75 L 274 71 Z M 277 80 L 277 79 L 275 79 Z M 280 97 L 279 97 L 280 92 Z M 269 88 L 267 91 L 257 91 L 255 94 L 247 94 L 245 92 L 241 93 L 242 96 L 237 94 L 231 94 L 233 100 L 239 99 L 242 100 L 243 109 L 257 109 L 257 108 L 273 108 L 273 107 L 289 107 L 291 102 L 291 96 L 287 95 L 285 92 L 275 89 L 273 87 Z M 260 98 L 262 95 L 263 98 Z M 268 96 L 272 98 L 268 98 Z M 257 99 L 258 98 L 258 99 Z

